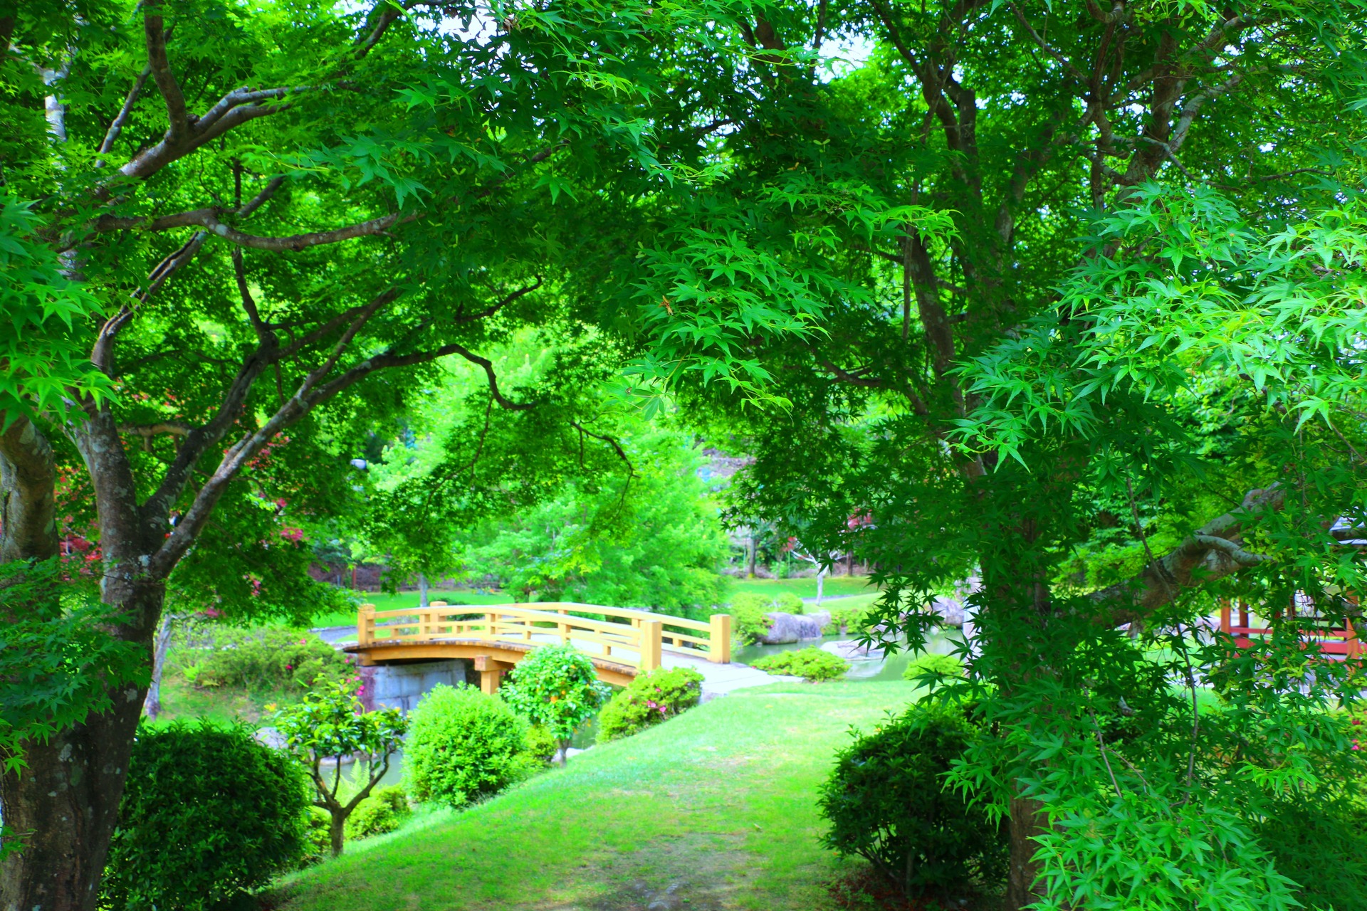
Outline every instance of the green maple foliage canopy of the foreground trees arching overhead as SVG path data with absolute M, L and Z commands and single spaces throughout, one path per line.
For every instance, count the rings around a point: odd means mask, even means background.
M 25 7 L 0 559 L 97 544 L 142 647 L 168 585 L 280 612 L 291 516 L 604 496 L 619 374 L 745 443 L 737 515 L 872 561 L 884 630 L 915 645 L 977 575 L 958 691 L 1007 736 L 957 774 L 1010 815 L 1009 907 L 1289 907 L 1259 833 L 1362 777 L 1329 712 L 1360 682 L 1289 608 L 1360 616 L 1364 12 Z M 536 333 L 555 363 L 514 388 L 491 352 Z M 358 449 L 443 358 L 484 391 L 370 485 Z M 370 534 L 435 567 L 461 524 L 418 518 Z M 60 612 L 33 578 L 11 616 Z M 1267 650 L 1200 632 L 1218 597 L 1288 608 Z M 7 904 L 97 892 L 135 702 L 26 746 L 90 770 L 81 833 L 5 776 L 37 833 Z

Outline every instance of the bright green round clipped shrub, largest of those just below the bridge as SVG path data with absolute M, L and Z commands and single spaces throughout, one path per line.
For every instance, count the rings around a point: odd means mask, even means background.
M 459 807 L 525 777 L 526 723 L 503 699 L 437 684 L 409 716 L 403 776 L 420 803 Z

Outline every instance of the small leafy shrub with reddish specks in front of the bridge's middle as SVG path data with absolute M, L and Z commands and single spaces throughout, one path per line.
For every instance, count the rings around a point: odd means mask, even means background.
M 610 692 L 586 654 L 571 645 L 547 645 L 513 668 L 502 695 L 528 721 L 545 725 L 560 744 L 563 762 L 574 731 L 593 717 Z

